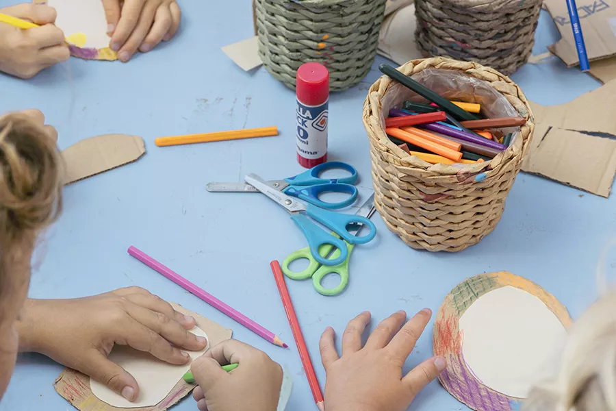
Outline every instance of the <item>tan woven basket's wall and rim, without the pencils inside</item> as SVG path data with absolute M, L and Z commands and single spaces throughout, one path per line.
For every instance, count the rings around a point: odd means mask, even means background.
M 384 111 L 399 107 L 407 99 L 398 97 L 401 90 L 410 93 L 413 99 L 418 96 L 387 76 L 370 87 L 363 105 L 363 125 L 370 140 L 376 209 L 387 227 L 410 247 L 460 251 L 478 243 L 500 221 L 535 125 L 522 90 L 498 71 L 447 58 L 413 60 L 399 70 L 414 75 L 426 69 L 454 71 L 483 80 L 487 90 L 506 98 L 505 105 L 507 101 L 511 103 L 513 108 L 509 106 L 509 110 L 527 119 L 511 146 L 493 160 L 477 164 L 429 164 L 402 151 L 383 131 Z M 466 101 L 476 102 L 472 97 Z

